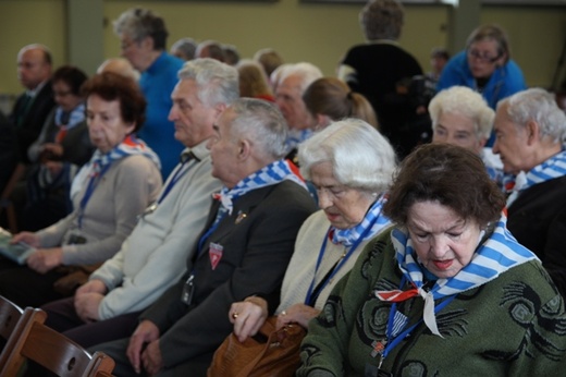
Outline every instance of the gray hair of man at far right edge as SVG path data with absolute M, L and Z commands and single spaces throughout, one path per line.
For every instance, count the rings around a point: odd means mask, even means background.
M 531 88 L 502 99 L 497 109 L 508 104 L 507 115 L 518 126 L 536 121 L 541 137 L 550 137 L 554 143 L 564 143 L 566 137 L 566 114 L 556 104 L 554 95 L 541 89 Z

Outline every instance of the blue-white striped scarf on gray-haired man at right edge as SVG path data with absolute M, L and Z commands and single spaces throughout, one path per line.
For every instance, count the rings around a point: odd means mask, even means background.
M 536 184 L 543 183 L 555 178 L 566 175 L 566 150 L 562 150 L 541 165 L 532 168 L 528 173 L 517 174 L 515 187 L 507 198 L 507 207 L 520 195 L 520 193 Z

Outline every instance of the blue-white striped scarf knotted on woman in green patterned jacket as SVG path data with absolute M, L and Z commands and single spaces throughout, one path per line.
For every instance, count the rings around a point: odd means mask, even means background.
M 423 267 L 415 259 L 416 252 L 410 238 L 404 231 L 394 229 L 391 240 L 396 251 L 398 266 L 407 279 L 416 288 L 415 294 L 424 300 L 423 320 L 432 333 L 442 337 L 436 326 L 434 315 L 434 300 L 452 296 L 495 279 L 501 273 L 517 267 L 537 256 L 520 245 L 506 227 L 507 218 L 502 214 L 493 233 L 480 245 L 471 262 L 452 278 L 436 280 L 430 291 L 423 287 Z M 376 291 L 376 295 L 383 301 L 396 301 L 395 294 L 405 294 L 404 291 Z

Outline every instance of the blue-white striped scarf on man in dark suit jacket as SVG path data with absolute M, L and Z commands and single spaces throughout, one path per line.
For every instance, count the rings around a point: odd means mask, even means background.
M 233 200 L 253 190 L 278 184 L 284 180 L 293 181 L 308 191 L 305 181 L 298 174 L 297 167 L 288 160 L 278 160 L 246 177 L 232 190 L 223 186 L 219 194 L 214 194 L 214 198 L 221 203 L 220 211 L 227 211 L 229 215 L 232 215 Z

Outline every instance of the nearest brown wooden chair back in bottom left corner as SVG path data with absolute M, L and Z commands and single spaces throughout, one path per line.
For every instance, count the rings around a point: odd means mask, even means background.
M 71 339 L 44 325 L 44 320 L 32 321 L 20 339 L 7 344 L 9 356 L 0 368 L 0 376 L 17 376 L 25 360 L 60 377 L 95 377 L 98 372 L 112 373 L 114 361 L 110 356 L 102 352 L 90 355 Z

